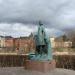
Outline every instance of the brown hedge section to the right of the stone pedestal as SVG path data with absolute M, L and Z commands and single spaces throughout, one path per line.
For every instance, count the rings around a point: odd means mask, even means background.
M 55 55 L 57 68 L 75 70 L 75 55 Z

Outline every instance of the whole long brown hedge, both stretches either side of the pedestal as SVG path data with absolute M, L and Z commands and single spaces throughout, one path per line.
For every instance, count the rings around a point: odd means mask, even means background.
M 75 55 L 54 55 L 57 68 L 75 70 Z M 0 67 L 23 67 L 26 55 L 0 55 Z

